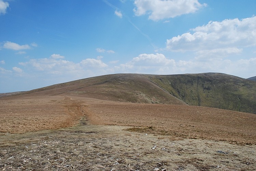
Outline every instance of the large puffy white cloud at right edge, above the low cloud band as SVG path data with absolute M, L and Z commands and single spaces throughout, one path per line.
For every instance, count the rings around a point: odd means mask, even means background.
M 170 51 L 199 51 L 256 45 L 256 17 L 210 21 L 192 31 L 194 33 L 167 40 L 166 48 Z

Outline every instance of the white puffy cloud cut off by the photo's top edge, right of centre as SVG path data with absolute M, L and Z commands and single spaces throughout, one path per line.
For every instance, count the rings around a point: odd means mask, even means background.
M 200 4 L 198 0 L 135 0 L 134 4 L 135 15 L 150 14 L 148 19 L 154 21 L 194 13 L 206 5 Z

